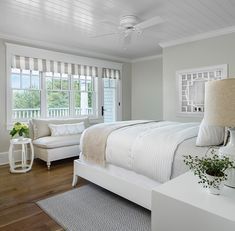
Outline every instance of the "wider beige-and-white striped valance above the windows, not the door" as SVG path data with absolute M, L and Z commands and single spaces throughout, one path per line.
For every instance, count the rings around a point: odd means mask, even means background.
M 12 57 L 12 68 L 34 70 L 43 72 L 55 72 L 71 75 L 98 76 L 98 68 L 80 64 L 64 63 L 53 60 L 30 58 L 15 55 Z

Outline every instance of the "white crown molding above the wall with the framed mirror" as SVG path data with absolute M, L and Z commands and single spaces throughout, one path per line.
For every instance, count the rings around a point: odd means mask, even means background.
M 172 40 L 172 41 L 168 41 L 168 42 L 162 42 L 162 43 L 159 43 L 159 46 L 162 48 L 172 47 L 172 46 L 176 46 L 176 45 L 180 45 L 180 44 L 184 44 L 184 43 L 190 43 L 190 42 L 213 38 L 213 37 L 217 37 L 217 36 L 221 36 L 221 35 L 231 34 L 234 32 L 235 32 L 235 26 L 226 27 L 223 29 L 214 30 L 214 31 L 210 31 L 207 33 L 202 33 L 202 34 L 197 34 L 197 35 L 185 37 L 182 39 Z

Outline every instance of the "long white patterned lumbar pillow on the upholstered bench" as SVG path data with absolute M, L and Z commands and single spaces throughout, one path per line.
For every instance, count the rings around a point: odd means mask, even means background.
M 69 136 L 81 134 L 85 130 L 84 122 L 76 124 L 48 124 L 51 136 Z

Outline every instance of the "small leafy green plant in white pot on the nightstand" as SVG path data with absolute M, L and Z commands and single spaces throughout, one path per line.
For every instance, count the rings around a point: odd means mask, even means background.
M 184 163 L 193 170 L 194 175 L 199 177 L 199 184 L 208 188 L 210 193 L 219 195 L 224 181 L 227 180 L 226 170 L 233 167 L 233 161 L 229 157 L 216 155 L 214 150 L 211 154 L 201 158 L 184 156 Z

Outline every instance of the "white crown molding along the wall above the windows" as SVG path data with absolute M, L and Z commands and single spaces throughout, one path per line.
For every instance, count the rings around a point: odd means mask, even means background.
M 117 61 L 117 62 L 130 63 L 132 61 L 131 59 L 128 59 L 128 58 L 106 55 L 103 53 L 92 52 L 92 51 L 88 51 L 88 50 L 84 50 L 80 48 L 74 48 L 71 46 L 64 46 L 64 45 L 60 45 L 56 43 L 49 43 L 49 42 L 40 41 L 40 40 L 22 38 L 22 37 L 18 37 L 15 35 L 0 33 L 0 38 L 8 40 L 7 42 L 14 42 L 14 43 L 18 42 L 18 43 L 22 43 L 22 45 L 39 46 L 40 48 L 44 48 L 44 49 L 55 49 L 59 52 L 67 52 L 67 53 L 71 53 L 71 54 L 79 55 L 79 56 L 100 58 L 100 59 L 105 59 L 105 60 L 114 61 L 114 62 Z

